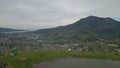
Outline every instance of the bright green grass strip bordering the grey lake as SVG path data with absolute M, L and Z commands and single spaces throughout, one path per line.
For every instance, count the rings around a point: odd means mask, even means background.
M 120 60 L 120 54 L 114 53 L 93 53 L 93 52 L 68 52 L 60 50 L 46 50 L 22 53 L 14 57 L 9 57 L 7 59 L 8 64 L 11 66 L 9 68 L 32 68 L 33 64 L 37 64 L 43 61 L 52 61 L 56 58 L 97 58 L 97 59 L 113 59 Z M 0 57 L 1 59 L 2 57 Z

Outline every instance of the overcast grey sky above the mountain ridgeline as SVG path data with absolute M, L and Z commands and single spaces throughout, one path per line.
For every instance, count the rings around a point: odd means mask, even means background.
M 53 28 L 90 15 L 120 21 L 120 0 L 0 0 L 0 27 L 5 28 Z

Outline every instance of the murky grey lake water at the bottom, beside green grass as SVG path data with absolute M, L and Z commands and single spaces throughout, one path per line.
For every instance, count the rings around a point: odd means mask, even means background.
M 101 59 L 62 58 L 54 61 L 42 62 L 35 68 L 120 68 L 120 61 Z

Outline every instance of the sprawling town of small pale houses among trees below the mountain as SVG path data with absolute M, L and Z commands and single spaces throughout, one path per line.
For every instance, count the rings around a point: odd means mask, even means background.
M 102 49 L 113 52 L 120 52 L 119 46 L 117 44 L 108 44 L 104 43 L 104 39 L 100 39 L 100 41 L 95 41 L 91 47 L 91 43 L 86 42 L 84 44 L 44 44 L 41 43 L 43 40 L 40 39 L 41 35 L 32 34 L 32 33 L 16 33 L 16 34 L 0 34 L 0 55 L 10 55 L 14 56 L 15 54 L 19 54 L 20 52 L 29 52 L 29 51 L 37 51 L 37 50 L 66 50 L 66 51 L 80 51 L 87 52 L 93 51 L 97 52 L 97 49 Z M 97 47 L 97 48 L 96 48 Z M 17 52 L 16 52 L 17 51 Z

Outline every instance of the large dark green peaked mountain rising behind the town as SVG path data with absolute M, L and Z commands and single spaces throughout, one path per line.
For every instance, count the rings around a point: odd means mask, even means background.
M 41 39 L 54 41 L 96 41 L 105 39 L 115 41 L 120 39 L 120 22 L 112 18 L 88 16 L 77 22 L 51 29 L 40 29 Z

